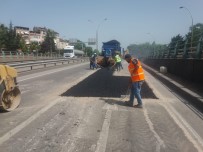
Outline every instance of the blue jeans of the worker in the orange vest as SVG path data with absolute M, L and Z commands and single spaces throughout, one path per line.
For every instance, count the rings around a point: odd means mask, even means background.
M 138 104 L 142 105 L 142 98 L 140 95 L 142 84 L 143 84 L 143 81 L 132 83 L 131 93 L 130 93 L 130 103 L 132 103 L 132 105 L 134 104 L 135 97 L 137 98 Z

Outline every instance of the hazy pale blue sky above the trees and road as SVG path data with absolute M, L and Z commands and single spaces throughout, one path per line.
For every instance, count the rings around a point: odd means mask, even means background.
M 126 48 L 152 41 L 167 44 L 177 34 L 184 36 L 192 21 L 180 6 L 190 10 L 194 24 L 203 23 L 203 0 L 0 0 L 0 23 L 45 26 L 84 42 L 95 38 L 100 25 L 99 47 L 116 39 Z

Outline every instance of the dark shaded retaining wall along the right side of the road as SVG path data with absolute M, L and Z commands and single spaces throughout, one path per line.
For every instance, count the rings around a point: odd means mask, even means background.
M 166 66 L 171 74 L 190 81 L 203 83 L 203 60 L 145 59 L 143 62 L 157 70 L 159 70 L 160 66 Z

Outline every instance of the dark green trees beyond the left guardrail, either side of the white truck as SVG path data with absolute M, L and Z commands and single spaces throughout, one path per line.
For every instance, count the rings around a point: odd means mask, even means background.
M 31 53 L 34 50 L 38 53 L 50 54 L 50 53 L 63 53 L 63 50 L 58 50 L 56 48 L 54 39 L 56 38 L 56 33 L 53 30 L 48 29 L 45 39 L 42 43 L 31 42 L 29 45 L 26 44 L 25 39 L 17 34 L 14 30 L 12 23 L 9 27 L 4 24 L 0 24 L 0 51 L 22 51 L 23 53 Z M 68 42 L 68 41 L 67 41 Z M 84 51 L 85 55 L 91 56 L 93 53 L 99 53 L 98 50 L 93 50 L 92 47 L 86 46 L 80 40 L 76 43 L 70 43 L 75 49 Z

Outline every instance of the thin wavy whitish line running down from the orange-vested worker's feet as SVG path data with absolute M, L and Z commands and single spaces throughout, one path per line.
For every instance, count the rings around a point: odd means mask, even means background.
M 149 125 L 149 129 L 154 134 L 154 137 L 157 140 L 156 152 L 160 152 L 161 147 L 165 148 L 164 141 L 161 139 L 161 137 L 158 135 L 158 133 L 154 130 L 153 123 L 151 122 L 151 120 L 149 118 L 149 114 L 148 114 L 147 110 L 144 108 L 143 111 L 144 111 L 145 120 L 146 120 L 147 124 Z

